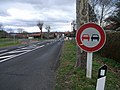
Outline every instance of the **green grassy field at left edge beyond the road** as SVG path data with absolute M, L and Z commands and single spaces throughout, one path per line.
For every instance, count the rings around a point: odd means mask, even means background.
M 18 40 L 11 39 L 11 38 L 0 38 L 0 48 L 7 47 L 7 46 L 14 46 L 18 45 L 20 42 Z

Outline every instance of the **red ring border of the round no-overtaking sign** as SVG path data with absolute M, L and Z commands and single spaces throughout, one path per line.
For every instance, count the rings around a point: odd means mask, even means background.
M 100 33 L 101 40 L 100 40 L 99 44 L 96 45 L 95 47 L 91 47 L 91 48 L 87 47 L 87 46 L 83 45 L 82 42 L 81 42 L 81 39 L 80 39 L 81 33 L 86 28 L 95 28 Z M 104 46 L 105 41 L 106 41 L 106 34 L 105 34 L 104 30 L 99 25 L 97 25 L 95 23 L 87 23 L 87 24 L 82 25 L 78 29 L 78 31 L 76 33 L 76 41 L 77 41 L 78 46 L 80 48 L 82 48 L 84 51 L 87 51 L 87 52 L 96 52 L 96 51 L 100 50 Z

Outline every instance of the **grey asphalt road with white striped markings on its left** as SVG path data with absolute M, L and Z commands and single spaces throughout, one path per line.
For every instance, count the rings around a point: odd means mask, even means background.
M 62 45 L 52 40 L 1 50 L 0 90 L 54 90 Z

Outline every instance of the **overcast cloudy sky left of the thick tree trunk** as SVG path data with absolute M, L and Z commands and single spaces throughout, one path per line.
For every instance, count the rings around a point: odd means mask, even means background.
M 71 31 L 75 8 L 75 0 L 0 0 L 0 23 L 9 32 L 17 28 L 38 32 L 38 21 L 44 23 L 43 31 L 47 25 L 51 31 Z

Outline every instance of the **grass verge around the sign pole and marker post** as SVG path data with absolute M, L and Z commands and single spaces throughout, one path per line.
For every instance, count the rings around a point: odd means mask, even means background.
M 60 67 L 56 72 L 56 90 L 95 90 L 99 68 L 107 64 L 107 80 L 105 90 L 120 90 L 119 65 L 113 65 L 114 60 L 102 58 L 94 54 L 92 79 L 85 76 L 86 70 L 74 68 L 76 60 L 76 44 L 66 41 L 61 55 Z M 116 62 L 115 62 L 116 63 Z

